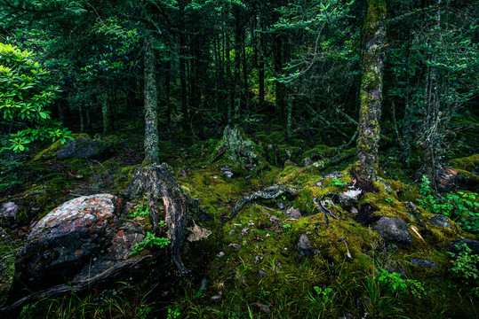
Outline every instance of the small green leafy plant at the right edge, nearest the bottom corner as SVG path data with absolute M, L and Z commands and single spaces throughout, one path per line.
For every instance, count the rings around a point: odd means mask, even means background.
M 459 253 L 448 252 L 453 258 L 451 272 L 468 284 L 469 280 L 474 281 L 479 277 L 479 270 L 476 266 L 479 263 L 479 256 L 471 254 L 472 250 L 466 244 L 455 246 Z

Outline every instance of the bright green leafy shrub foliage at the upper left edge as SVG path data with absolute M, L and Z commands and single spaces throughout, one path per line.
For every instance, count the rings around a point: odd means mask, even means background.
M 0 43 L 0 114 L 12 125 L 28 127 L 11 134 L 9 149 L 14 152 L 25 151 L 26 145 L 36 140 L 65 143 L 73 139 L 70 131 L 53 121 L 48 111 L 60 90 L 46 84 L 49 76 L 33 60 L 32 52 Z

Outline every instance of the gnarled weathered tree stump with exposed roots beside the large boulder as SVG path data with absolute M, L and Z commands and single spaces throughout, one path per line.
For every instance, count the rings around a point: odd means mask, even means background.
M 184 276 L 190 271 L 181 260 L 181 245 L 185 239 L 187 226 L 188 203 L 192 202 L 180 189 L 168 165 L 152 165 L 138 168 L 132 182 L 124 193 L 126 198 L 148 199 L 149 214 L 153 222 L 153 231 L 159 230 L 158 210 L 160 200 L 164 203 L 164 221 L 168 226 L 168 237 L 171 241 L 172 260 L 178 267 L 180 275 Z

